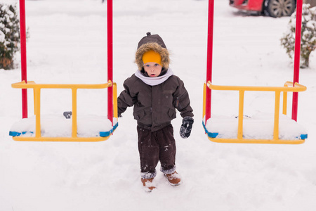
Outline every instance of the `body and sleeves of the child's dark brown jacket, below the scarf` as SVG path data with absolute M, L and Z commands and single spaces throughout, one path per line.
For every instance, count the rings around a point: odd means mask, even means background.
M 124 89 L 117 98 L 118 113 L 134 106 L 133 116 L 140 127 L 153 132 L 166 127 L 176 118 L 175 108 L 182 117 L 193 117 L 187 90 L 176 75 L 156 86 L 147 85 L 132 75 L 125 80 Z

